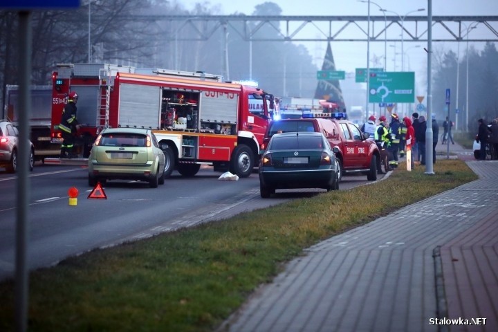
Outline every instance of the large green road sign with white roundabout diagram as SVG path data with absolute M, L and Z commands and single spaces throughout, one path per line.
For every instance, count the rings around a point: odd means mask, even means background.
M 414 102 L 415 73 L 370 73 L 369 102 Z

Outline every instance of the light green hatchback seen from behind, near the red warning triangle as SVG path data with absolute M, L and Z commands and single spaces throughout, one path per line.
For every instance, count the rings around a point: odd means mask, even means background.
M 107 128 L 93 143 L 89 185 L 108 180 L 147 181 L 152 188 L 165 181 L 165 154 L 151 129 Z

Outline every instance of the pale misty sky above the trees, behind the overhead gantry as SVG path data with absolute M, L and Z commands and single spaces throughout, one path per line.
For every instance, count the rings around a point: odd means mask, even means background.
M 186 9 L 192 10 L 194 3 L 205 3 L 208 8 L 217 8 L 216 11 L 219 15 L 230 15 L 234 12 L 241 12 L 246 15 L 252 15 L 255 6 L 264 3 L 264 0 L 212 0 L 212 1 L 196 1 L 196 0 L 181 0 L 177 1 L 181 3 Z M 355 0 L 306 0 L 306 1 L 296 1 L 296 0 L 274 0 L 271 1 L 277 3 L 280 8 L 282 8 L 282 15 L 367 15 L 367 3 L 361 3 Z M 412 0 L 376 0 L 374 1 L 378 6 L 385 8 L 386 10 L 391 10 L 396 12 L 400 16 L 404 16 L 407 12 L 412 10 L 417 10 L 418 8 L 425 8 L 423 12 L 414 12 L 410 15 L 427 15 L 428 1 Z M 380 12 L 378 6 L 371 1 L 371 15 L 384 16 Z M 396 15 L 394 13 L 388 12 L 387 15 Z M 432 15 L 498 15 L 498 1 L 495 0 L 434 0 L 432 1 Z M 337 27 L 342 26 L 338 24 Z M 334 27 L 334 26 L 333 26 Z M 377 25 L 376 25 L 377 27 Z M 380 25 L 378 28 L 382 28 Z M 495 28 L 497 28 L 495 26 Z M 366 25 L 365 25 L 366 29 Z M 484 27 L 479 27 L 472 30 L 472 34 L 483 33 Z M 315 33 L 314 30 L 313 32 Z M 394 27 L 388 29 L 389 34 L 393 37 L 395 33 L 400 36 L 401 29 L 396 31 Z M 433 29 L 434 34 L 437 33 Z M 326 50 L 326 42 L 308 42 L 302 43 L 308 47 L 310 54 L 313 57 L 315 64 L 321 66 L 322 59 Z M 396 65 L 396 70 L 400 71 L 401 62 L 401 42 L 389 42 L 387 47 L 387 71 L 393 71 Z M 353 42 L 332 42 L 332 50 L 335 58 L 335 65 L 338 70 L 344 70 L 347 72 L 353 72 L 355 68 L 365 68 L 367 65 L 367 43 L 353 43 Z M 405 35 L 405 42 L 403 43 L 403 50 L 405 52 L 404 67 L 405 71 L 409 69 L 415 71 L 416 73 L 422 73 L 427 71 L 427 53 L 423 50 L 423 47 L 427 46 L 424 42 L 407 42 L 407 37 Z M 461 44 L 460 52 L 461 56 L 465 53 L 466 44 Z M 477 49 L 483 47 L 483 43 L 470 43 L 470 46 Z M 433 50 L 441 50 L 444 52 L 448 49 L 453 49 L 457 52 L 456 42 L 439 42 L 432 45 Z M 370 54 L 371 58 L 374 56 L 380 57 L 382 66 L 384 64 L 384 42 L 383 38 L 380 37 L 379 42 L 370 43 Z M 395 53 L 396 59 L 395 59 Z M 372 66 L 372 64 L 371 64 Z

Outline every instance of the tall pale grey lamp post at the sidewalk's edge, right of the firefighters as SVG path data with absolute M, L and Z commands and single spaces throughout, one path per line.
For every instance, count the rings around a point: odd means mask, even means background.
M 434 175 L 432 165 L 432 0 L 427 0 L 427 122 L 431 125 L 425 130 L 425 174 Z

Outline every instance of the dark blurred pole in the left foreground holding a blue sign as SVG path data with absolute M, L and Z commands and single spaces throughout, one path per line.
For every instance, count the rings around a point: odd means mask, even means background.
M 17 223 L 15 320 L 16 331 L 24 332 L 28 321 L 28 220 L 30 154 L 28 123 L 31 113 L 31 12 L 19 12 L 19 160 L 17 163 Z

